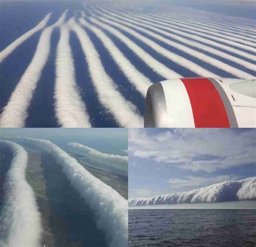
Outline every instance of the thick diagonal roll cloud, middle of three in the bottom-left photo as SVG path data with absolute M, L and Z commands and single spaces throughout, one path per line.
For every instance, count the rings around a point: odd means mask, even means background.
M 76 159 L 52 142 L 33 138 L 24 140 L 53 155 L 71 186 L 95 212 L 97 227 L 105 233 L 109 245 L 127 246 L 128 218 L 125 198 L 89 173 Z

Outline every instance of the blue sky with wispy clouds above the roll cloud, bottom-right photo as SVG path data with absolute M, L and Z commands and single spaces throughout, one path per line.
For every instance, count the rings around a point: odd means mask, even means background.
M 255 129 L 129 129 L 129 198 L 256 176 Z

